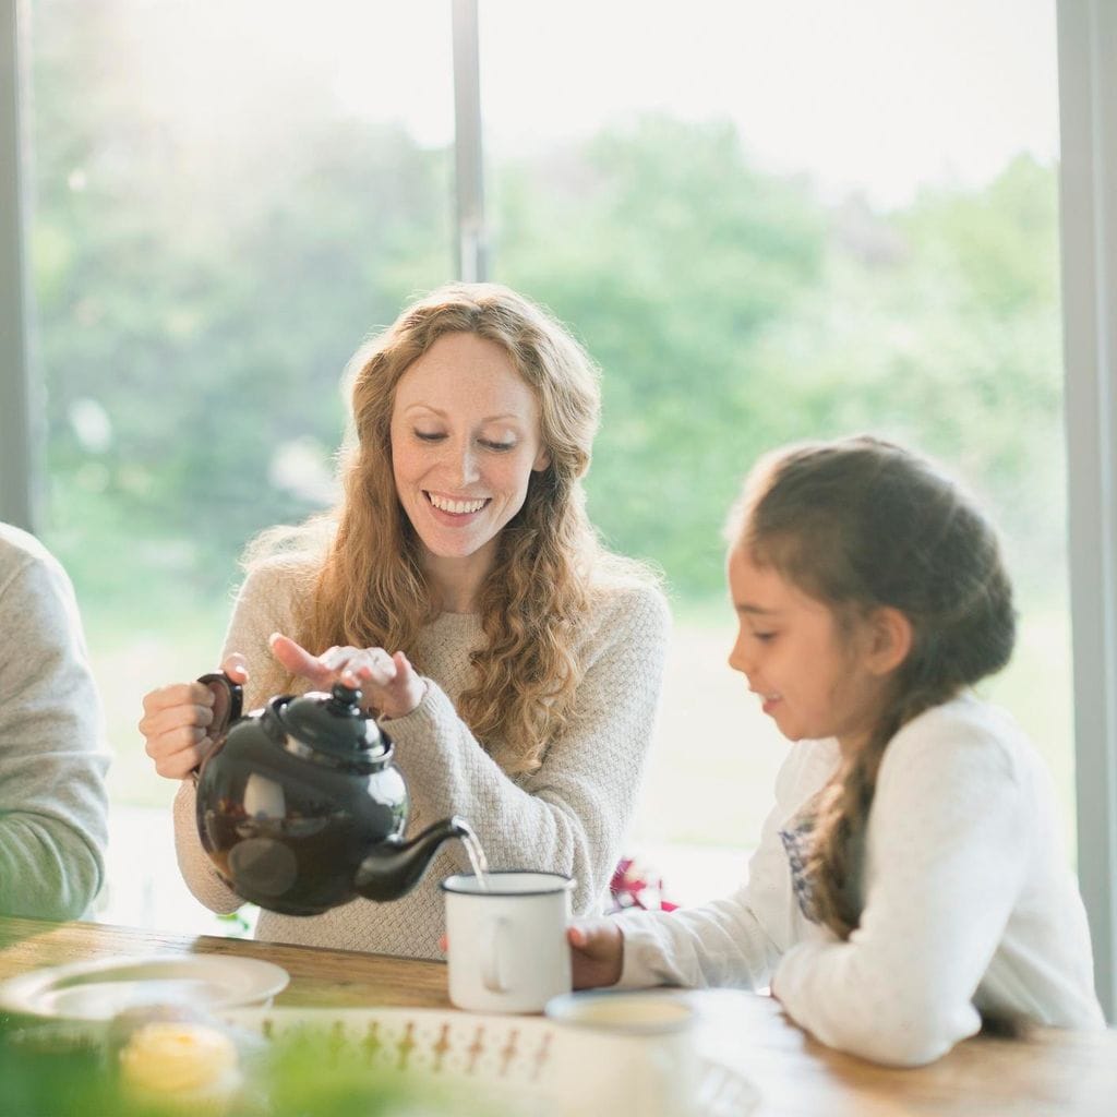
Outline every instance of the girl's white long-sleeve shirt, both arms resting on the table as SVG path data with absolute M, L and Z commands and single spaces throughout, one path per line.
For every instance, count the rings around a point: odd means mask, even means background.
M 980 1011 L 1100 1027 L 1086 913 L 1067 867 L 1047 770 L 1011 718 L 965 696 L 889 743 L 848 941 L 810 922 L 780 831 L 838 764 L 800 742 L 776 779 L 748 880 L 729 899 L 621 920 L 627 986 L 771 981 L 823 1043 L 879 1062 L 930 1062 Z

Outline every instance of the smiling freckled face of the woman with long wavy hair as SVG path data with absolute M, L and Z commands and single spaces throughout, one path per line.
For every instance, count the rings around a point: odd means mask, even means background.
M 400 378 L 391 437 L 395 489 L 429 569 L 487 571 L 532 471 L 551 460 L 538 401 L 505 351 L 474 334 L 440 337 Z

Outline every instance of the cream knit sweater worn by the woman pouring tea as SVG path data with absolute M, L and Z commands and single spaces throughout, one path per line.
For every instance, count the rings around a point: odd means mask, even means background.
M 226 639 L 250 676 L 270 657 L 271 632 L 293 631 L 299 579 L 276 562 L 246 580 Z M 384 723 L 408 784 L 408 834 L 449 814 L 476 830 L 494 869 L 545 869 L 577 880 L 576 913 L 600 911 L 621 853 L 651 742 L 667 649 L 668 612 L 657 590 L 602 591 L 586 636 L 586 672 L 573 724 L 552 742 L 542 767 L 509 777 L 457 716 L 454 701 L 471 684 L 469 653 L 485 637 L 476 614 L 442 613 L 403 649 L 423 663 L 428 688 L 407 717 Z M 394 650 L 394 649 L 390 649 Z M 254 671 L 255 668 L 255 671 Z M 246 708 L 268 695 L 254 693 Z M 241 900 L 217 876 L 198 838 L 194 791 L 184 781 L 174 803 L 179 866 L 190 890 L 214 911 Z M 457 842 L 445 844 L 407 896 L 386 904 L 356 899 L 318 916 L 262 911 L 258 938 L 335 949 L 441 957 L 443 900 L 438 885 L 469 871 Z

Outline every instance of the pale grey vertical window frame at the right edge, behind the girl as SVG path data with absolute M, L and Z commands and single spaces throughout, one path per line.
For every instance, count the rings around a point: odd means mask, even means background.
M 1117 1011 L 1117 4 L 1059 0 L 1078 873 Z

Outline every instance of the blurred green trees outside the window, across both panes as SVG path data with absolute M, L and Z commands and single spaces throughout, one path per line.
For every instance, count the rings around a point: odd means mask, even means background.
M 48 535 L 106 612 L 219 594 L 249 536 L 314 509 L 277 448 L 328 470 L 346 359 L 451 278 L 452 152 L 341 115 L 262 48 L 219 115 L 183 117 L 213 90 L 137 92 L 166 7 L 34 4 Z M 882 212 L 762 172 L 726 123 L 648 116 L 491 171 L 494 278 L 603 370 L 593 517 L 679 595 L 722 593 L 760 452 L 859 430 L 939 456 L 1018 579 L 1062 592 L 1051 168 Z

